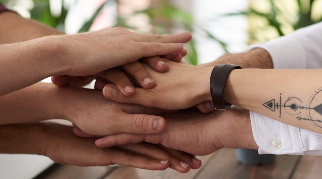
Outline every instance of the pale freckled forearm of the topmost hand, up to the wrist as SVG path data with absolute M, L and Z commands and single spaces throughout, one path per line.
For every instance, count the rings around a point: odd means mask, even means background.
M 63 73 L 66 53 L 52 37 L 0 45 L 0 96 Z

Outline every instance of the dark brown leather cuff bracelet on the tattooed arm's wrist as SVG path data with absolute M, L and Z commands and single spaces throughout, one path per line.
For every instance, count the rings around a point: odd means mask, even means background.
M 223 100 L 223 92 L 228 75 L 234 69 L 241 69 L 242 67 L 234 64 L 216 65 L 213 68 L 210 76 L 210 93 L 213 98 L 213 106 L 217 110 L 227 110 L 231 104 Z

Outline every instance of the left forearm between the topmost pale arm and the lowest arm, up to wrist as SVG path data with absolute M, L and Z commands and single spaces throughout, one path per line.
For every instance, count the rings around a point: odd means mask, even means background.
M 0 97 L 0 124 L 63 119 L 65 97 L 51 83 L 37 83 Z

